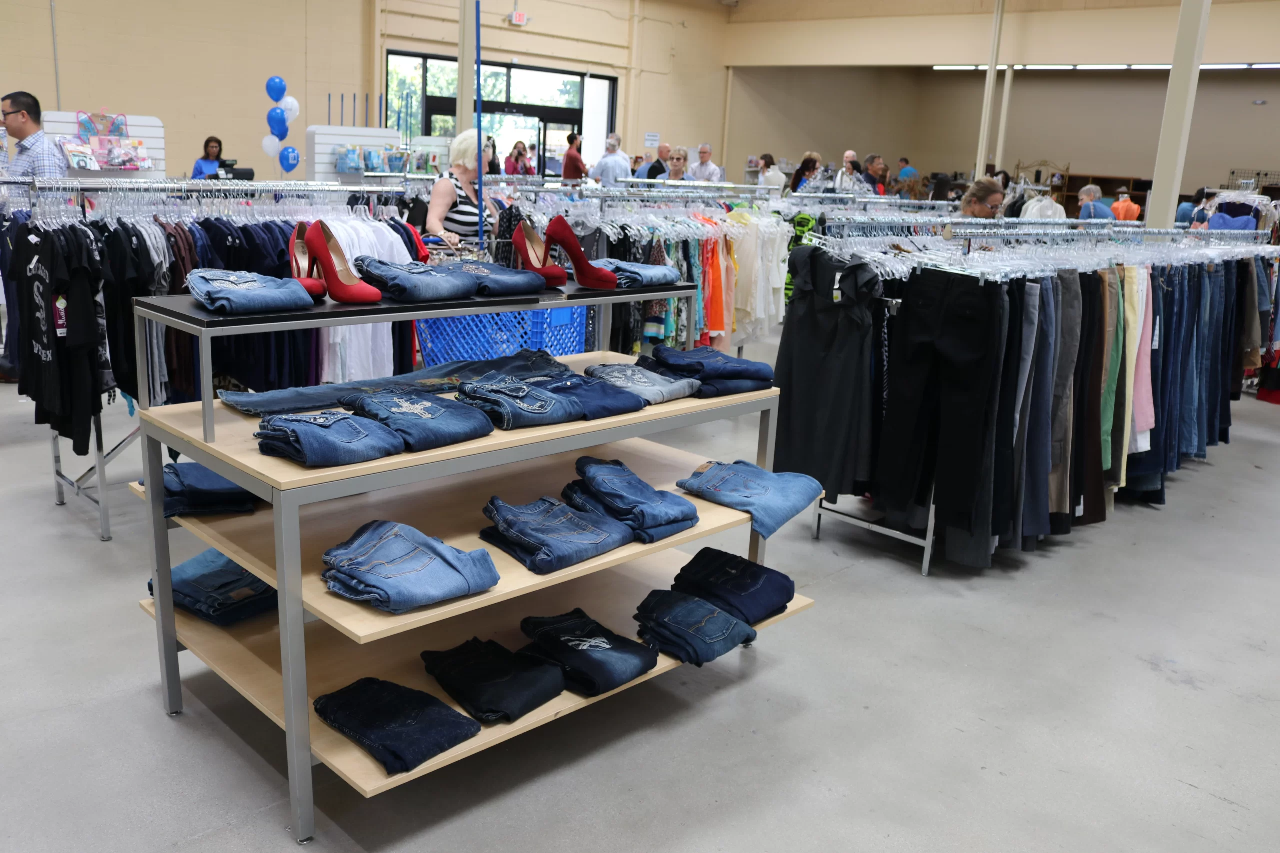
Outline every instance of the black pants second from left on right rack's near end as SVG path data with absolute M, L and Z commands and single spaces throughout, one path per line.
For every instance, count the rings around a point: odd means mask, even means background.
M 928 269 L 908 283 L 890 358 L 877 476 L 891 513 L 910 506 L 932 468 L 938 523 L 973 532 L 983 437 L 993 428 L 987 411 L 998 336 L 998 286 Z M 934 444 L 937 458 L 928 459 Z

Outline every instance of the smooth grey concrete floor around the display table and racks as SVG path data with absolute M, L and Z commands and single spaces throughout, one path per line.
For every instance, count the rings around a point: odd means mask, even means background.
M 1234 417 L 1167 506 L 987 572 L 795 519 L 769 563 L 813 610 L 372 799 L 319 766 L 307 849 L 1275 850 L 1280 409 Z M 189 652 L 164 715 L 143 506 L 114 492 L 100 542 L 47 436 L 0 386 L 0 850 L 294 849 L 280 730 Z M 750 457 L 755 419 L 662 440 Z

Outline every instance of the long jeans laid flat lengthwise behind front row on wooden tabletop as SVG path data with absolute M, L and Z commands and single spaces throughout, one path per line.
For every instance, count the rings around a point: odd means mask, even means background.
M 293 412 L 315 412 L 338 405 L 348 394 L 374 394 L 393 387 L 420 387 L 426 391 L 453 391 L 458 384 L 468 379 L 479 379 L 490 371 L 497 371 L 516 379 L 536 379 L 572 373 L 566 364 L 556 361 L 545 349 L 521 349 L 515 356 L 490 358 L 483 362 L 444 362 L 431 364 L 411 373 L 364 379 L 338 385 L 308 385 L 306 387 L 283 387 L 276 391 L 218 391 L 227 405 L 244 414 L 291 414 Z

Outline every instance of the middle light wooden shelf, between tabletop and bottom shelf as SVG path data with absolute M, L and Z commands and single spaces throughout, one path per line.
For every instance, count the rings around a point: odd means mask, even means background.
M 564 483 L 577 477 L 573 463 L 581 455 L 622 459 L 645 482 L 684 495 L 698 506 L 698 526 L 652 545 L 631 542 L 552 574 L 535 574 L 506 551 L 480 538 L 480 528 L 490 524 L 483 509 L 493 495 L 498 495 L 508 504 L 525 504 L 543 495 L 558 497 Z M 750 524 L 749 513 L 713 504 L 676 489 L 677 480 L 687 477 L 704 462 L 707 462 L 704 457 L 686 450 L 645 439 L 627 439 L 511 463 L 500 468 L 442 477 L 415 486 L 383 489 L 352 497 L 306 504 L 301 510 L 302 606 L 347 637 L 366 643 L 591 574 L 712 533 Z M 138 483 L 132 483 L 132 487 L 134 494 L 145 496 Z M 325 568 L 321 555 L 355 533 L 361 524 L 375 519 L 412 524 L 424 533 L 436 536 L 466 551 L 485 547 L 493 556 L 502 581 L 485 592 L 417 607 L 401 615 L 384 613 L 365 602 L 329 592 L 324 578 L 320 577 Z M 257 512 L 247 514 L 179 515 L 174 520 L 275 586 L 275 527 L 270 505 L 260 503 Z

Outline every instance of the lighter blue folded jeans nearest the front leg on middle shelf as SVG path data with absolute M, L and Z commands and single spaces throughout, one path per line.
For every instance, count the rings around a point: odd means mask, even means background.
M 483 547 L 463 551 L 396 522 L 367 522 L 321 559 L 330 592 L 388 613 L 483 592 L 500 581 Z

